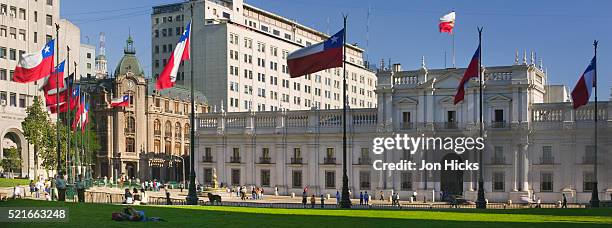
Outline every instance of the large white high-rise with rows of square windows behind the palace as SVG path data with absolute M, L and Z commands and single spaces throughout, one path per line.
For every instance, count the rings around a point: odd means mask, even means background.
M 155 78 L 190 21 L 191 6 L 195 18 L 190 41 L 193 53 L 179 68 L 179 85 L 189 85 L 194 63 L 195 88 L 206 95 L 212 107 L 232 112 L 342 107 L 342 68 L 290 78 L 287 67 L 289 53 L 322 42 L 329 35 L 242 0 L 197 0 L 153 7 L 151 64 Z M 346 48 L 349 105 L 375 107 L 376 77 L 364 61 L 364 50 L 356 45 Z

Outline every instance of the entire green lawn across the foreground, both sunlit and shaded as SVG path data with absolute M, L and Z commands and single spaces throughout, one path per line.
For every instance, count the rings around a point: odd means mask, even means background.
M 62 227 L 612 227 L 612 209 L 514 210 L 334 210 L 263 209 L 219 206 L 139 206 L 147 216 L 168 222 L 114 222 L 121 205 L 33 200 L 1 202 L 0 207 L 67 206 Z M 53 227 L 58 223 L 20 223 L 0 227 Z

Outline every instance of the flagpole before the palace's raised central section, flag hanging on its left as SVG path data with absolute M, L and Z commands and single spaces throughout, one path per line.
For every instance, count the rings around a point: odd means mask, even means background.
M 480 119 L 480 137 L 483 138 L 484 136 L 484 123 L 482 121 L 482 84 L 483 83 L 483 77 L 482 77 L 482 27 L 478 28 L 478 48 L 480 49 L 478 51 L 478 77 L 479 77 L 479 106 L 480 106 L 480 113 L 479 113 L 479 119 Z M 453 52 L 454 52 L 454 48 L 453 48 Z M 453 59 L 454 61 L 454 59 Z M 482 162 L 482 154 L 483 154 L 483 150 L 479 150 L 478 151 L 478 161 L 480 162 L 480 169 L 478 169 L 478 198 L 476 199 L 476 208 L 479 209 L 486 209 L 487 208 L 487 203 L 485 201 L 485 194 L 484 194 L 484 180 L 483 180 L 483 162 Z

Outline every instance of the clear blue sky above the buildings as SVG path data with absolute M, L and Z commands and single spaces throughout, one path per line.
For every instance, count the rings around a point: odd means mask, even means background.
M 131 30 L 137 55 L 145 72 L 151 69 L 151 6 L 180 0 L 82 1 L 63 0 L 61 16 L 81 28 L 81 40 L 97 44 L 98 34 L 106 33 L 110 70 L 123 54 Z M 428 68 L 451 64 L 451 39 L 437 30 L 438 18 L 457 12 L 456 62 L 465 67 L 473 54 L 478 34 L 484 26 L 483 64 L 510 65 L 516 50 L 521 59 L 525 50 L 537 52 L 548 68 L 552 84 L 571 88 L 593 55 L 598 39 L 599 99 L 608 100 L 612 86 L 612 1 L 375 1 L 375 0 L 246 0 L 256 7 L 297 20 L 323 32 L 342 26 L 341 13 L 349 14 L 348 41 L 366 47 L 366 18 L 370 9 L 368 57 L 378 63 L 390 58 L 404 69 L 420 67 L 425 56 Z M 529 56 L 528 56 L 529 59 Z

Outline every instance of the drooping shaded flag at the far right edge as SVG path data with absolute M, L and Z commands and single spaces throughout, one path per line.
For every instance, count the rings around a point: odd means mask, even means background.
M 580 106 L 583 106 L 589 102 L 589 98 L 591 97 L 591 90 L 594 86 L 596 86 L 597 75 L 596 67 L 597 67 L 597 58 L 593 57 L 591 60 L 591 64 L 587 67 L 587 69 L 582 73 L 580 79 L 576 83 L 574 90 L 572 90 L 572 101 L 574 103 L 574 109 L 577 109 Z

